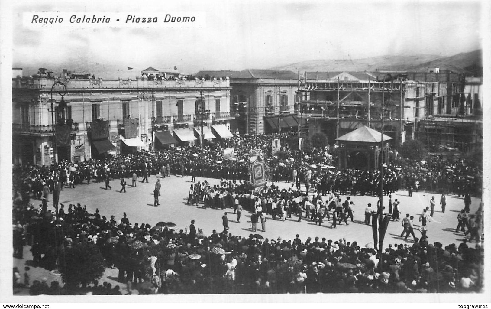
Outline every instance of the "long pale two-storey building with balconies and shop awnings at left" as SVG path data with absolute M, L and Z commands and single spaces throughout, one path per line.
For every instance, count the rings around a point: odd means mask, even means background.
M 205 136 L 215 133 L 205 139 L 215 138 L 235 119 L 226 79 L 104 80 L 66 70 L 55 77 L 46 69 L 31 77 L 13 70 L 12 110 L 13 162 L 36 165 L 152 149 L 154 142 L 194 142 L 202 123 Z M 69 126 L 69 144 L 53 147 L 58 126 L 52 118 Z M 199 129 L 192 132 L 193 127 Z

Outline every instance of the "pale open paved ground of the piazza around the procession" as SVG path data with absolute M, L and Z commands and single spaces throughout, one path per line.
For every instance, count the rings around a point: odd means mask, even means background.
M 160 178 L 160 176 L 159 176 Z M 141 178 L 139 178 L 141 179 Z M 155 225 L 159 221 L 174 222 L 177 224 L 176 231 L 179 229 L 185 229 L 189 227 L 191 219 L 195 219 L 196 228 L 202 228 L 205 235 L 209 235 L 213 229 L 218 232 L 223 230 L 221 225 L 221 216 L 223 211 L 219 209 L 204 209 L 202 204 L 199 207 L 195 205 L 186 205 L 188 190 L 191 185 L 191 176 L 171 176 L 160 178 L 162 183 L 161 189 L 161 205 L 158 207 L 153 206 L 153 190 L 155 188 L 156 176 L 149 177 L 149 183 L 141 183 L 138 181 L 136 188 L 129 185 L 126 186 L 126 193 L 119 193 L 121 186 L 119 185 L 119 179 L 111 181 L 112 190 L 105 190 L 104 183 L 93 183 L 90 185 L 86 183 L 78 185 L 76 189 L 65 188 L 60 194 L 60 202 L 65 204 L 65 209 L 68 208 L 70 203 L 81 203 L 82 206 L 87 206 L 89 213 L 94 213 L 96 208 L 99 208 L 101 216 L 106 216 L 109 220 L 110 215 L 114 215 L 116 220 L 120 220 L 123 217 L 123 212 L 126 212 L 130 223 L 145 223 Z M 197 177 L 196 181 L 203 181 L 207 179 L 212 185 L 218 184 L 219 179 L 208 179 Z M 128 183 L 131 180 L 127 179 Z M 291 183 L 280 182 L 276 183 L 280 188 L 288 188 Z M 302 186 L 302 189 L 305 189 Z M 401 201 L 400 211 L 401 218 L 406 213 L 414 216 L 414 223 L 419 226 L 418 216 L 422 212 L 422 209 L 430 205 L 430 198 L 432 194 L 426 192 L 413 193 L 412 197 L 408 197 L 407 191 L 400 191 L 393 194 L 392 198 L 397 198 Z M 345 197 L 343 196 L 343 201 Z M 346 238 L 347 241 L 357 241 L 359 245 L 364 246 L 367 243 L 373 242 L 372 228 L 371 226 L 364 225 L 364 209 L 367 203 L 372 203 L 372 207 L 376 208 L 377 197 L 371 196 L 356 196 L 351 197 L 355 202 L 355 222 L 348 221 L 349 225 L 344 223 L 337 225 L 336 228 L 329 228 L 330 222 L 324 221 L 322 226 L 315 225 L 310 220 L 302 219 L 302 222 L 297 222 L 297 217 L 292 215 L 292 218 L 288 218 L 286 221 L 272 220 L 271 216 L 268 216 L 266 222 L 266 232 L 261 233 L 265 238 L 276 239 L 281 237 L 282 239 L 294 239 L 295 235 L 300 234 L 300 239 L 305 240 L 307 237 L 315 236 L 326 237 L 326 239 L 338 240 L 339 238 Z M 446 212 L 443 214 L 440 212 L 439 195 L 435 195 L 436 199 L 436 211 L 435 222 L 428 223 L 428 237 L 430 242 L 438 241 L 443 245 L 451 243 L 459 244 L 464 238 L 462 233 L 455 233 L 455 227 L 457 226 L 457 214 L 464 208 L 464 198 L 457 196 L 447 197 Z M 471 204 L 471 213 L 475 212 L 479 207 L 480 199 L 473 197 Z M 388 204 L 388 197 L 384 197 L 384 205 Z M 387 206 L 386 206 L 387 208 Z M 246 211 L 243 212 L 243 217 L 240 223 L 236 223 L 237 216 L 233 214 L 231 208 L 226 209 L 230 212 L 229 218 L 229 232 L 233 235 L 248 236 L 250 231 L 250 214 Z M 244 218 L 246 217 L 246 218 Z M 261 225 L 258 224 L 258 227 Z M 399 235 L 402 232 L 401 222 L 390 222 L 384 243 L 400 243 L 404 239 Z M 420 236 L 419 231 L 415 231 L 416 237 Z M 474 246 L 474 243 L 471 244 Z

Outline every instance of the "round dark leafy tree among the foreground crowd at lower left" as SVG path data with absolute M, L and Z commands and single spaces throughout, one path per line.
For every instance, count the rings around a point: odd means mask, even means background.
M 92 283 L 102 277 L 105 269 L 104 257 L 92 243 L 69 246 L 60 256 L 61 279 L 69 287 Z

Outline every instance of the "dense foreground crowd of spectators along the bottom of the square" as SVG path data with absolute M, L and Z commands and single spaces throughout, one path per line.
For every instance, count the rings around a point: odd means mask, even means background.
M 205 236 L 191 222 L 189 233 L 163 225 L 130 223 L 89 214 L 70 205 L 60 218 L 30 207 L 25 225 L 36 265 L 63 267 L 60 250 L 81 244 L 96 246 L 107 267 L 118 268 L 118 281 L 139 293 L 452 293 L 482 287 L 483 248 L 461 244 L 389 244 L 382 255 L 371 245 L 345 239 L 264 239 L 213 231 Z M 28 218 L 28 219 L 27 219 Z M 19 223 L 20 225 L 20 223 Z M 44 255 L 41 258 L 41 255 Z M 380 268 L 379 263 L 382 263 Z M 61 269 L 60 269 L 61 271 Z M 17 274 L 16 274 L 17 273 Z M 17 278 L 17 280 L 16 280 Z M 20 283 L 14 269 L 14 284 Z M 15 281 L 16 280 L 16 281 Z M 147 282 L 145 287 L 143 283 Z M 86 282 L 91 294 L 121 293 L 109 284 Z M 48 287 L 33 281 L 32 295 L 72 294 L 81 289 Z

